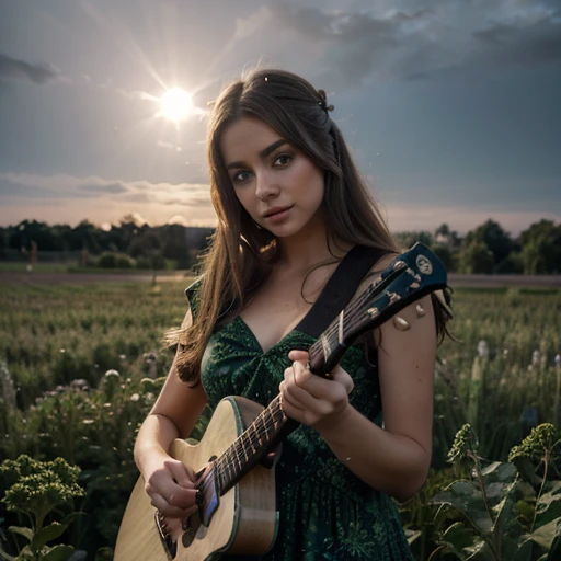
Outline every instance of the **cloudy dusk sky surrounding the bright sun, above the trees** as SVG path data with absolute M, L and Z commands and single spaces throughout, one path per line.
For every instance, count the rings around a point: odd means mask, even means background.
M 0 0 L 0 226 L 214 225 L 208 104 L 328 93 L 392 231 L 561 220 L 561 0 Z M 193 111 L 162 114 L 172 88 Z

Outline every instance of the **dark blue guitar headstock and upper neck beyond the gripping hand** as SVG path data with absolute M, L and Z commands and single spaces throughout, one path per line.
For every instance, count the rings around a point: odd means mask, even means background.
M 411 302 L 443 290 L 446 283 L 443 262 L 426 245 L 415 243 L 396 257 L 379 279 L 337 316 L 318 344 L 312 345 L 310 369 L 316 374 L 331 371 L 358 336 L 381 325 Z

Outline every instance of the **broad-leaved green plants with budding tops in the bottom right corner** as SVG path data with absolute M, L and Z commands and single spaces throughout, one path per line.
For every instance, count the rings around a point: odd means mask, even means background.
M 469 462 L 470 477 L 454 481 L 432 503 L 438 548 L 430 559 L 554 561 L 561 558 L 561 432 L 534 428 L 507 462 L 482 465 L 469 424 L 457 434 L 449 459 Z

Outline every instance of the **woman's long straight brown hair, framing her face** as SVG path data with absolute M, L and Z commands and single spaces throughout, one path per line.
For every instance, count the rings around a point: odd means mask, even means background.
M 260 118 L 324 171 L 324 216 L 333 239 L 397 251 L 330 117 L 331 108 L 323 91 L 283 70 L 254 70 L 226 87 L 216 101 L 208 124 L 207 159 L 218 226 L 204 256 L 197 313 L 180 337 L 176 367 L 182 380 L 198 383 L 203 353 L 216 324 L 225 310 L 243 309 L 276 255 L 273 234 L 259 228 L 239 203 L 219 150 L 222 131 L 238 118 Z

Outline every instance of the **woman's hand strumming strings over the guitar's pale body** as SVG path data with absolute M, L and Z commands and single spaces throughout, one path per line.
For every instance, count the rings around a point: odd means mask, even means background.
M 185 466 L 171 456 L 154 461 L 145 477 L 152 506 L 170 518 L 188 518 L 197 510 L 197 490 Z

